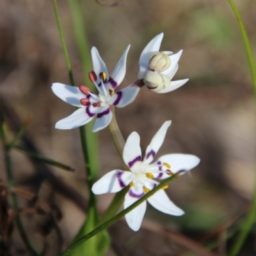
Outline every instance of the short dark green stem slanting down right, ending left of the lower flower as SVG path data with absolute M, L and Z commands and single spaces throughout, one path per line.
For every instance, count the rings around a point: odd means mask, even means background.
M 51 164 L 52 166 L 56 166 L 56 167 L 61 168 L 65 171 L 68 171 L 68 172 L 74 172 L 75 171 L 74 168 L 72 168 L 72 167 L 70 167 L 66 164 L 63 164 L 63 163 L 57 162 L 55 160 L 52 160 L 51 158 L 36 154 L 35 152 L 29 151 L 26 148 L 20 147 L 18 145 L 15 146 L 14 148 L 19 150 L 20 152 L 23 152 L 23 153 L 27 154 L 30 157 L 38 159 L 39 161 L 42 161 L 42 162 L 47 163 L 47 164 Z

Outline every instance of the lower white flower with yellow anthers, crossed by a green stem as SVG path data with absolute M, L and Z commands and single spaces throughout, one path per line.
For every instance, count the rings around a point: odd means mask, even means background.
M 140 136 L 137 132 L 132 132 L 127 138 L 123 152 L 124 162 L 131 172 L 113 170 L 107 173 L 93 184 L 93 193 L 97 195 L 115 193 L 129 185 L 130 189 L 125 195 L 124 201 L 124 208 L 127 208 L 159 184 L 154 179 L 166 179 L 179 171 L 186 172 L 194 168 L 200 162 L 200 159 L 188 154 L 168 154 L 161 156 L 156 162 L 150 164 L 163 144 L 166 131 L 170 125 L 171 121 L 164 122 L 148 145 L 144 158 L 141 154 Z M 170 201 L 163 189 L 154 193 L 147 201 L 157 210 L 166 214 L 175 216 L 184 214 L 184 211 Z M 125 215 L 127 224 L 132 230 L 140 229 L 146 205 L 147 203 L 143 202 Z

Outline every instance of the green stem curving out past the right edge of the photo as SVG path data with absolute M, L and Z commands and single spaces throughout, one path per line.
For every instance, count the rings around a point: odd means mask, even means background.
M 244 28 L 243 20 L 241 18 L 239 11 L 236 8 L 236 5 L 234 4 L 234 2 L 232 0 L 228 0 L 228 2 L 230 3 L 230 6 L 231 6 L 233 12 L 236 15 L 236 18 L 237 18 L 237 21 L 239 24 L 239 28 L 240 28 L 240 31 L 241 31 L 241 34 L 243 37 L 244 47 L 246 49 L 246 54 L 247 54 L 247 58 L 248 58 L 249 66 L 250 66 L 251 75 L 252 75 L 253 89 L 254 89 L 254 95 L 255 95 L 255 100 L 256 100 L 256 70 L 255 70 L 255 63 L 253 60 L 252 49 L 250 47 L 250 41 L 249 41 L 248 35 L 246 33 L 246 29 Z M 255 104 L 256 104 L 256 102 L 255 102 Z M 255 175 L 255 177 L 256 177 L 256 175 Z M 243 246 L 244 241 L 245 241 L 246 237 L 248 236 L 250 228 L 252 227 L 253 222 L 255 221 L 255 216 L 256 216 L 256 180 L 255 180 L 255 189 L 254 189 L 254 193 L 253 193 L 251 209 L 248 212 L 244 222 L 241 225 L 241 230 L 237 236 L 236 241 L 234 242 L 234 244 L 230 250 L 230 253 L 229 253 L 230 256 L 236 256 L 239 253 L 239 251 L 241 250 L 241 247 Z

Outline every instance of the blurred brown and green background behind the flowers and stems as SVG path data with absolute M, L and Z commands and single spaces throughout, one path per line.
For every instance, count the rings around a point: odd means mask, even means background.
M 141 51 L 161 32 L 164 32 L 162 51 L 184 50 L 173 80 L 189 78 L 182 88 L 164 95 L 142 88 L 132 104 L 116 109 L 125 139 L 137 131 L 141 147 L 145 149 L 163 122 L 172 120 L 157 156 L 180 152 L 195 154 L 202 162 L 167 190 L 171 200 L 186 212 L 184 216 L 166 216 L 148 205 L 139 232 L 129 230 L 124 221 L 110 228 L 113 244 L 108 255 L 198 255 L 186 253 L 184 246 L 159 234 L 159 229 L 170 228 L 201 241 L 215 228 L 243 216 L 254 186 L 253 89 L 237 20 L 228 1 L 124 0 L 117 3 L 120 4 L 110 7 L 96 1 L 79 1 L 88 45 L 97 47 L 110 74 L 125 47 L 131 44 L 127 74 L 120 88 L 136 81 Z M 240 0 L 236 4 L 255 53 L 256 3 Z M 58 6 L 75 81 L 81 84 L 83 71 L 68 1 L 58 1 Z M 63 192 L 65 186 L 71 186 L 84 198 L 87 196 L 79 130 L 54 129 L 58 120 L 74 111 L 74 107 L 52 93 L 54 82 L 70 84 L 52 1 L 1 0 L 0 93 L 8 110 L 9 136 L 12 138 L 12 124 L 17 121 L 13 112 L 20 120 L 33 115 L 28 134 L 36 147 L 45 156 L 76 169 L 75 173 L 68 173 L 51 168 L 50 172 L 57 177 L 54 183 L 51 175 L 44 176 L 44 168 L 39 172 L 38 166 L 20 152 L 12 154 L 17 186 L 38 193 L 52 212 L 58 209 L 60 214 L 57 221 L 60 234 L 51 227 L 52 223 L 47 223 L 44 214 L 22 215 L 29 237 L 38 250 L 45 248 L 46 255 L 56 255 L 58 250 L 67 248 L 84 220 L 83 200 L 80 202 L 77 194 L 73 199 L 68 198 Z M 122 163 L 108 130 L 100 131 L 99 137 L 101 177 L 120 168 Z M 1 179 L 6 185 L 3 154 L 0 156 Z M 59 179 L 65 182 L 62 190 L 56 185 Z M 100 211 L 108 207 L 112 197 L 98 197 Z M 19 202 L 24 209 L 35 206 L 22 196 Z M 47 227 L 49 230 L 44 232 Z M 220 247 L 219 255 L 225 255 L 221 254 Z M 255 250 L 255 233 L 251 232 L 241 255 L 255 255 Z M 12 252 L 26 255 L 17 234 L 12 238 Z

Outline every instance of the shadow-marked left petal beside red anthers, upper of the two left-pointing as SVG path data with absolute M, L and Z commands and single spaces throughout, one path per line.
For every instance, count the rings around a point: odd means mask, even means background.
M 80 100 L 86 98 L 86 95 L 80 92 L 79 88 L 67 84 L 53 83 L 52 92 L 61 100 L 76 107 L 83 107 Z

